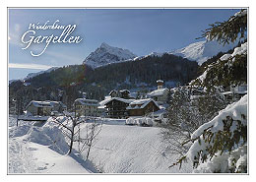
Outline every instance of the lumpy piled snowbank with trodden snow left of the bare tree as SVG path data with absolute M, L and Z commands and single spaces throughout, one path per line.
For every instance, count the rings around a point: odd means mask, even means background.
M 68 145 L 53 123 L 19 121 L 9 117 L 9 173 L 91 173 L 90 161 L 65 154 Z

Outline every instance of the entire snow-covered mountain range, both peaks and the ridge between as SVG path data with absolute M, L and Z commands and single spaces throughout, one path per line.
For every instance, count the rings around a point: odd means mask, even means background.
M 111 63 L 118 63 L 123 61 L 135 61 L 140 60 L 148 56 L 162 56 L 164 53 L 174 54 L 187 58 L 191 61 L 198 62 L 202 65 L 209 58 L 217 55 L 219 52 L 226 52 L 229 49 L 235 47 L 237 42 L 222 45 L 217 41 L 198 41 L 191 43 L 180 49 L 172 50 L 169 52 L 152 52 L 149 55 L 137 57 L 135 54 L 127 49 L 118 47 L 112 47 L 106 43 L 102 43 L 100 47 L 96 48 L 95 52 L 92 52 L 83 62 L 83 64 L 89 65 L 92 68 L 104 66 Z

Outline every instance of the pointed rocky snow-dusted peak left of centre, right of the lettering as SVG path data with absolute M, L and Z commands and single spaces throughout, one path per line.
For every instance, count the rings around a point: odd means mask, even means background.
M 133 60 L 136 57 L 131 51 L 118 47 L 112 47 L 102 43 L 95 52 L 92 52 L 83 62 L 92 68 L 117 63 L 125 60 Z

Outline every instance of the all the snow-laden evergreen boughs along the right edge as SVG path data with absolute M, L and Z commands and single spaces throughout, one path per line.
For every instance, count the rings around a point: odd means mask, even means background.
M 211 25 L 203 36 L 221 43 L 244 38 L 247 30 L 247 10 L 241 10 L 224 23 Z M 247 84 L 247 42 L 224 54 L 191 85 L 208 89 L 217 86 Z M 227 105 L 209 122 L 200 126 L 185 142 L 192 142 L 189 151 L 171 166 L 189 159 L 194 172 L 247 172 L 247 95 Z

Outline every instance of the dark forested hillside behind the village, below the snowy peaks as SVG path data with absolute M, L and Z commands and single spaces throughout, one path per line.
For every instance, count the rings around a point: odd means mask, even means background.
M 83 96 L 83 92 L 89 98 L 101 100 L 113 89 L 140 90 L 142 83 L 146 88 L 156 87 L 158 79 L 185 85 L 196 78 L 197 71 L 196 62 L 169 54 L 109 64 L 95 70 L 87 65 L 70 65 L 27 80 L 30 86 L 24 86 L 21 81 L 13 82 L 9 90 L 10 99 L 20 95 L 24 105 L 32 99 L 58 100 L 61 90 L 63 102 L 71 108 L 73 101 Z

